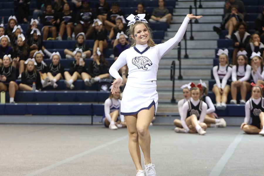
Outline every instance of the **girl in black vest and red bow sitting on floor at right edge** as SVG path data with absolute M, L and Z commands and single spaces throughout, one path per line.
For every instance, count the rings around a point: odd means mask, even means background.
M 254 87 L 252 88 L 251 98 L 246 102 L 246 116 L 240 128 L 248 134 L 260 134 L 264 136 L 263 85 L 256 86 L 254 83 L 251 83 L 251 85 Z M 249 125 L 250 118 L 252 118 L 252 122 Z

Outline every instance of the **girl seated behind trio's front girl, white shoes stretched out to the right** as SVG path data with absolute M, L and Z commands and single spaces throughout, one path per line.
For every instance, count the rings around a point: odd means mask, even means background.
M 202 82 L 201 79 L 198 85 L 202 86 L 200 100 L 204 101 L 207 104 L 204 123 L 206 123 L 207 127 L 226 127 L 226 121 L 223 118 L 218 119 L 217 114 L 214 112 L 214 104 L 211 98 L 207 96 L 207 85 L 205 84 L 205 82 Z

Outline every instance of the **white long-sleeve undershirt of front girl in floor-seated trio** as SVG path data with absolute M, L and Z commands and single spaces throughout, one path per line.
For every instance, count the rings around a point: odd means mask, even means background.
M 201 100 L 193 100 L 193 99 L 190 99 L 190 101 L 192 102 L 192 104 L 194 106 L 197 106 Z M 188 128 L 185 120 L 187 118 L 187 112 L 189 110 L 189 103 L 188 101 L 186 101 L 183 106 L 182 106 L 182 116 L 181 116 L 181 123 L 182 123 L 182 127 L 185 129 L 185 132 L 187 133 L 190 129 Z M 204 118 L 205 118 L 205 115 L 206 115 L 206 110 L 207 110 L 207 104 L 205 102 L 202 101 L 202 109 L 201 109 L 201 114 L 200 114 L 200 118 L 199 118 L 199 121 L 198 123 L 202 123 L 204 122 Z

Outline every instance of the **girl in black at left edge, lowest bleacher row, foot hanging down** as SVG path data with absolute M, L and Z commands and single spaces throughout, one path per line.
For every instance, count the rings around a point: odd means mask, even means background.
M 11 55 L 4 55 L 3 66 L 0 67 L 0 90 L 9 91 L 10 103 L 15 103 L 14 97 L 18 90 L 18 85 L 16 84 L 16 68 L 11 66 Z

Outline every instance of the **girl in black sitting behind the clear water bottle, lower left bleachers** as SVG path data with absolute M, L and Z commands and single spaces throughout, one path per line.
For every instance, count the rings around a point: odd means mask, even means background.
M 35 59 L 28 58 L 25 64 L 26 70 L 22 73 L 21 83 L 18 85 L 18 87 L 23 91 L 32 91 L 32 85 L 35 83 L 35 91 L 38 92 L 38 90 L 42 88 L 42 85 L 40 82 L 40 75 L 35 68 L 37 62 Z

